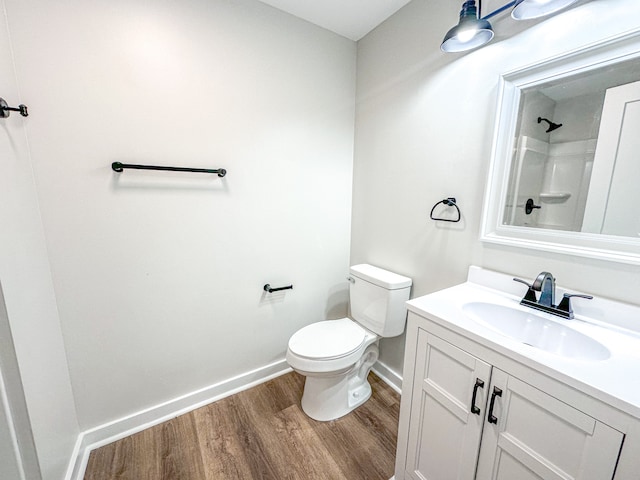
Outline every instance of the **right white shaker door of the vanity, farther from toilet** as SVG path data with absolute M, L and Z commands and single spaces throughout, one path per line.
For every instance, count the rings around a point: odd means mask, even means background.
M 495 367 L 487 392 L 477 480 L 613 478 L 622 433 Z

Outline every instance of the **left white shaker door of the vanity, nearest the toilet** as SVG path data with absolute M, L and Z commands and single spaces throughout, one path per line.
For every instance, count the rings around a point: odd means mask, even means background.
M 491 366 L 418 330 L 405 478 L 473 480 Z

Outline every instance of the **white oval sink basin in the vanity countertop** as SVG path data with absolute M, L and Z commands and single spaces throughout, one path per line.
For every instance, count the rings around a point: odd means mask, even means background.
M 611 355 L 600 342 L 560 323 L 567 320 L 484 302 L 467 303 L 462 309 L 476 323 L 554 355 L 576 360 L 606 360 Z

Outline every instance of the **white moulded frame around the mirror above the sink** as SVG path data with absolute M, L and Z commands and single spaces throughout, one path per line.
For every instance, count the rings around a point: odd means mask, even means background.
M 640 58 L 640 29 L 502 75 L 484 199 L 484 242 L 640 265 L 640 238 L 504 225 L 521 91 Z

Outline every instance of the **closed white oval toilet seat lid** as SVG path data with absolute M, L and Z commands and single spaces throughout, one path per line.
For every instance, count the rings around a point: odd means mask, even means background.
M 289 350 L 310 360 L 331 360 L 347 356 L 364 343 L 366 331 L 348 318 L 312 323 L 289 339 Z

